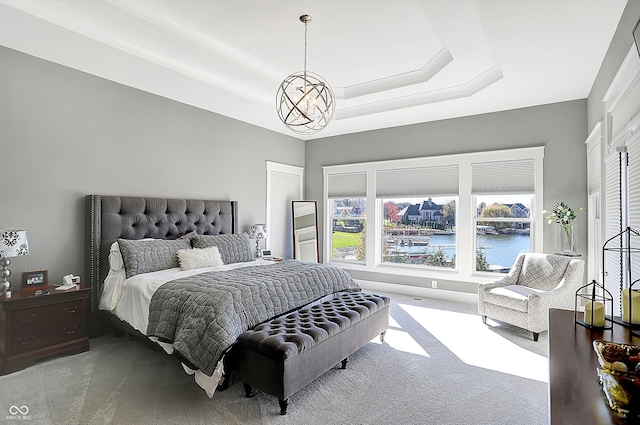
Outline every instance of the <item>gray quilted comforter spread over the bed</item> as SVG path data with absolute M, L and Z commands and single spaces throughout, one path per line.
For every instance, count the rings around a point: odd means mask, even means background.
M 298 261 L 202 273 L 158 288 L 147 335 L 173 343 L 183 361 L 211 375 L 246 330 L 325 295 L 359 289 L 342 269 Z

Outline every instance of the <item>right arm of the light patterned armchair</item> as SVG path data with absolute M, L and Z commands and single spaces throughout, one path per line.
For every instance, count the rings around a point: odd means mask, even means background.
M 549 329 L 549 309 L 561 308 L 573 310 L 576 291 L 583 284 L 584 260 L 574 259 L 569 262 L 560 283 L 550 291 L 529 295 L 528 317 L 529 329 L 540 332 Z

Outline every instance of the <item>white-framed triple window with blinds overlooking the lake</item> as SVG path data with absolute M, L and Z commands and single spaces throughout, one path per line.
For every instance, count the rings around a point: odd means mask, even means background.
M 460 281 L 506 272 L 520 252 L 542 249 L 543 217 L 533 211 L 543 208 L 543 154 L 533 147 L 324 167 L 323 258 Z

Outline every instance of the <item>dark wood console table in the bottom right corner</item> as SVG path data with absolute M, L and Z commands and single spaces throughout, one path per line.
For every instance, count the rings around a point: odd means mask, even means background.
M 640 345 L 629 329 L 591 330 L 577 325 L 569 310 L 549 310 L 549 410 L 552 425 L 616 424 L 602 393 L 592 342 Z

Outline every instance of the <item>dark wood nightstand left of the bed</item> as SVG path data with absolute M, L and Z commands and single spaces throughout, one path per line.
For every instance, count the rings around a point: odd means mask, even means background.
M 0 375 L 56 354 L 89 350 L 87 317 L 91 287 L 0 297 Z

